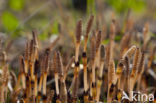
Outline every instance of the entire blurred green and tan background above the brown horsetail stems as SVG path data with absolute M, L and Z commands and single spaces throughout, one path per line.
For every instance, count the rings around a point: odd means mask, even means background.
M 49 33 L 58 33 L 60 22 L 73 27 L 78 18 L 85 20 L 90 14 L 107 21 L 111 12 L 122 20 L 128 11 L 134 21 L 148 19 L 155 26 L 155 10 L 154 0 L 0 0 L 0 32 L 17 38 L 35 28 L 45 39 Z

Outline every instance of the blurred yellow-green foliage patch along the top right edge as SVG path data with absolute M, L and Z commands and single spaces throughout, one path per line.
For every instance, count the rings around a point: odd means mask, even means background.
M 134 12 L 142 12 L 146 7 L 145 0 L 106 0 L 106 2 L 118 13 L 131 9 Z

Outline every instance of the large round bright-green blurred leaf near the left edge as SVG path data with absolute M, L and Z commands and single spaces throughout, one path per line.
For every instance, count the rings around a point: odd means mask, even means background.
M 2 25 L 7 31 L 15 30 L 19 24 L 19 21 L 16 18 L 16 16 L 14 16 L 14 14 L 12 14 L 9 11 L 3 12 L 1 21 L 2 21 Z

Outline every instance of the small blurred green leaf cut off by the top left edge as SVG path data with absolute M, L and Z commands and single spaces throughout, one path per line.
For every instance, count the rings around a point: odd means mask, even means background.
M 24 0 L 9 0 L 9 6 L 15 11 L 20 11 L 24 7 Z

